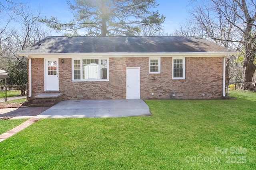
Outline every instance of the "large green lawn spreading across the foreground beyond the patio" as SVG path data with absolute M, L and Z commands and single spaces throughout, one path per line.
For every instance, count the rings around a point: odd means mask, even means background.
M 41 119 L 0 142 L 0 169 L 256 169 L 252 94 L 146 100 L 149 117 Z

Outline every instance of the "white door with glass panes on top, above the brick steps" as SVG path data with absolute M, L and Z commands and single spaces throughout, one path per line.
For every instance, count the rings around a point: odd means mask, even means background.
M 59 91 L 58 59 L 46 59 L 45 91 Z

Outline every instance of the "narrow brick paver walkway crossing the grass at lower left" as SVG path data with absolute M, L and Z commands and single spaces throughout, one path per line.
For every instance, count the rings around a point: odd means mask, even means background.
M 0 142 L 2 142 L 3 140 L 7 139 L 8 137 L 20 132 L 21 130 L 23 130 L 24 128 L 32 125 L 34 122 L 38 121 L 40 118 L 31 118 L 28 119 L 26 122 L 22 123 L 21 125 L 13 128 L 12 130 L 9 130 L 8 132 L 5 132 L 3 134 L 0 135 Z

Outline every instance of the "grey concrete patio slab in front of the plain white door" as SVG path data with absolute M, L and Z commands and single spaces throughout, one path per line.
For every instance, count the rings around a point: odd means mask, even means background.
M 142 99 L 61 101 L 40 113 L 39 118 L 128 117 L 151 115 Z

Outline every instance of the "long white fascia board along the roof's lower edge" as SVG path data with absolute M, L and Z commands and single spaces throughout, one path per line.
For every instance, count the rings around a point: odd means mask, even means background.
M 197 53 L 17 53 L 20 56 L 28 56 L 31 58 L 41 58 L 41 57 L 62 57 L 62 58 L 72 58 L 72 57 L 225 57 L 229 55 L 237 55 L 237 52 L 197 52 Z

